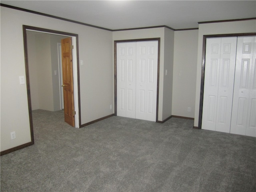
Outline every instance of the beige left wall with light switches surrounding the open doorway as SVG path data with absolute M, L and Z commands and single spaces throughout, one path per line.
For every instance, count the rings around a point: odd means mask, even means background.
M 0 14 L 1 151 L 31 141 L 26 84 L 19 83 L 26 76 L 22 25 L 78 34 L 81 123 L 113 114 L 112 32 L 2 6 Z

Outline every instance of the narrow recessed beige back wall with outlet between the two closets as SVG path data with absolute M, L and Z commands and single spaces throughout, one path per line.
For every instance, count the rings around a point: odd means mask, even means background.
M 194 118 L 197 48 L 198 30 L 174 32 L 172 115 Z

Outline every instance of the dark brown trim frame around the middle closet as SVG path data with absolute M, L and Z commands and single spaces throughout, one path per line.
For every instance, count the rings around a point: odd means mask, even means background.
M 116 44 L 124 42 L 158 41 L 157 59 L 157 86 L 156 86 L 156 122 L 158 122 L 158 102 L 159 102 L 159 70 L 160 70 L 160 38 L 114 40 L 114 116 L 117 116 L 117 70 L 116 70 Z

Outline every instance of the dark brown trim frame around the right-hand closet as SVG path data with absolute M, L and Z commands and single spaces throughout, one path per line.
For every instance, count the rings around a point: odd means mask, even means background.
M 206 38 L 222 38 L 222 37 L 238 37 L 238 36 L 256 36 L 256 33 L 213 34 L 213 35 L 204 35 L 203 36 L 202 72 L 201 72 L 201 88 L 200 88 L 200 103 L 199 103 L 199 121 L 198 121 L 198 127 L 194 127 L 194 128 L 202 129 Z

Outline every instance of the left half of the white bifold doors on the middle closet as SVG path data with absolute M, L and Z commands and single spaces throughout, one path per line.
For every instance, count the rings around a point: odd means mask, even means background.
M 117 115 L 136 117 L 136 42 L 116 44 Z

